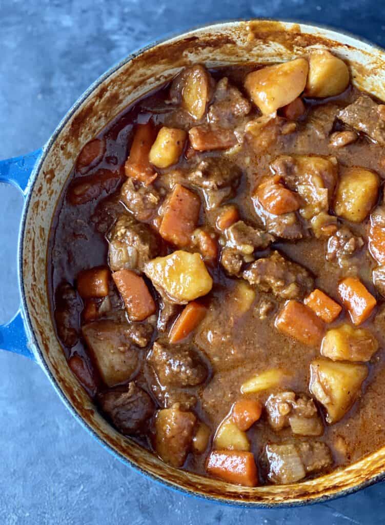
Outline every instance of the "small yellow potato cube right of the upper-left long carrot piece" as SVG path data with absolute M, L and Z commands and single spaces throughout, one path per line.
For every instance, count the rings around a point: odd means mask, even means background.
M 184 130 L 163 126 L 150 150 L 151 164 L 159 168 L 176 164 L 182 154 L 186 138 L 187 133 Z

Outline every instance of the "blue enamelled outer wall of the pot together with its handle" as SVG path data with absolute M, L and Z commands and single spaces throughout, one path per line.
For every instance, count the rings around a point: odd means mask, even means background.
M 80 107 L 82 102 L 84 102 L 91 93 L 95 90 L 96 87 L 98 87 L 103 81 L 105 81 L 110 75 L 112 75 L 114 72 L 116 72 L 122 65 L 127 64 L 132 58 L 140 55 L 145 50 L 150 49 L 152 46 L 156 45 L 151 44 L 148 46 L 145 46 L 144 48 L 140 49 L 136 53 L 130 55 L 127 59 L 123 60 L 116 66 L 113 66 L 110 70 L 108 70 L 104 75 L 102 75 L 95 83 L 93 83 L 84 93 L 83 95 L 78 99 L 78 101 L 74 104 L 74 106 L 68 111 L 64 119 L 60 122 L 57 129 L 55 130 L 54 134 L 51 136 L 50 140 L 48 141 L 47 145 L 43 149 L 36 150 L 35 152 L 32 152 L 25 156 L 20 156 L 13 159 L 8 159 L 5 161 L 0 161 L 0 181 L 3 182 L 9 182 L 14 184 L 16 187 L 19 188 L 19 190 L 23 193 L 25 197 L 25 203 L 24 203 L 24 209 L 23 209 L 23 216 L 22 216 L 22 222 L 20 223 L 20 230 L 19 230 L 19 236 L 18 236 L 18 277 L 20 279 L 20 275 L 22 275 L 22 241 L 24 237 L 24 224 L 25 224 L 25 217 L 26 212 L 28 209 L 29 204 L 29 197 L 30 197 L 30 191 L 32 190 L 34 186 L 34 182 L 36 179 L 37 174 L 39 173 L 39 169 L 41 164 L 44 161 L 44 155 L 47 150 L 51 147 L 51 145 L 55 142 L 57 135 L 63 128 L 64 124 L 67 122 L 69 117 L 76 112 L 76 110 Z M 22 283 L 19 282 L 19 291 L 20 295 L 22 296 Z M 36 339 L 34 337 L 34 333 L 31 329 L 30 321 L 28 319 L 28 312 L 25 308 L 25 301 L 23 296 L 21 297 L 22 304 L 20 305 L 19 311 L 16 313 L 15 317 L 8 322 L 6 325 L 0 327 L 0 348 L 3 350 L 8 350 L 11 352 L 16 352 L 21 355 L 24 355 L 34 361 L 37 361 L 40 366 L 43 367 L 45 372 L 47 373 L 47 376 L 49 377 L 49 380 L 55 390 L 57 391 L 59 397 L 61 400 L 65 403 L 69 411 L 74 415 L 74 417 L 77 419 L 77 421 L 86 428 L 87 432 L 89 432 L 94 438 L 98 440 L 98 442 L 106 448 L 110 453 L 112 453 L 117 459 L 122 461 L 124 464 L 128 466 L 133 466 L 136 468 L 141 474 L 151 477 L 153 480 L 160 482 L 162 485 L 166 485 L 169 488 L 172 488 L 174 490 L 182 491 L 184 493 L 187 493 L 188 495 L 192 496 L 198 496 L 192 491 L 184 490 L 183 488 L 175 487 L 174 484 L 169 484 L 166 480 L 160 480 L 156 476 L 152 476 L 147 471 L 142 470 L 137 465 L 133 465 L 130 463 L 130 461 L 123 457 L 121 454 L 117 453 L 111 446 L 106 444 L 106 442 L 101 439 L 98 434 L 93 430 L 85 421 L 82 419 L 78 413 L 75 411 L 75 409 L 72 407 L 72 405 L 68 402 L 67 398 L 61 392 L 57 382 L 55 381 L 55 378 L 50 373 L 48 366 L 46 363 L 44 363 L 44 360 L 40 358 L 40 352 L 37 349 L 37 343 Z M 370 479 L 369 481 L 357 485 L 356 487 L 352 489 L 348 489 L 345 491 L 340 491 L 337 495 L 333 496 L 325 496 L 325 497 L 319 497 L 317 499 L 313 499 L 310 501 L 310 503 L 316 503 L 321 502 L 325 500 L 335 499 L 337 497 L 345 496 L 349 493 L 355 492 L 357 490 L 360 490 L 361 488 L 367 487 L 369 485 L 372 485 L 373 483 L 376 483 L 379 480 L 384 479 L 385 474 L 381 474 L 375 478 Z M 215 502 L 219 503 L 225 503 L 227 505 L 232 506 L 238 506 L 238 507 L 292 507 L 297 505 L 308 505 L 308 501 L 304 501 L 301 503 L 279 503 L 274 505 L 268 505 L 261 502 L 229 502 L 226 499 L 220 499 L 220 498 L 211 498 L 210 496 L 207 496 L 206 499 L 213 499 Z

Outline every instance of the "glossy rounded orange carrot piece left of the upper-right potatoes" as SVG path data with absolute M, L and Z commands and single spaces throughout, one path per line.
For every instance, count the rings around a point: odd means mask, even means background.
M 280 183 L 279 175 L 260 184 L 256 191 L 258 201 L 267 212 L 273 215 L 295 212 L 301 206 L 299 195 Z

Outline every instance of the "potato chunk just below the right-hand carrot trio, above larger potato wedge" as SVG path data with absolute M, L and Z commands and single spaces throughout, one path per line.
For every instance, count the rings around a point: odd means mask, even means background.
M 378 341 L 365 328 L 341 324 L 326 332 L 321 354 L 333 361 L 369 361 L 378 350 Z

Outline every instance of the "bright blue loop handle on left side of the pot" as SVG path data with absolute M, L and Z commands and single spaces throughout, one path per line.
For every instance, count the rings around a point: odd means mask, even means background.
M 42 151 L 39 149 L 24 156 L 0 161 L 0 182 L 13 184 L 26 197 L 29 190 L 30 174 Z M 18 288 L 20 290 L 20 283 Z M 35 360 L 29 339 L 24 323 L 24 312 L 22 308 L 19 308 L 11 321 L 0 325 L 0 348 Z

